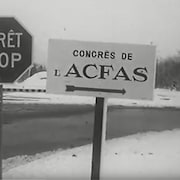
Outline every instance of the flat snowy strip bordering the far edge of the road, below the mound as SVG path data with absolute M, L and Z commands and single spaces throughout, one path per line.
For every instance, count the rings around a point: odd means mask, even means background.
M 44 104 L 91 104 L 94 105 L 94 97 L 67 96 L 46 93 L 11 92 L 4 93 L 4 103 L 44 103 Z M 174 107 L 180 108 L 180 91 L 167 89 L 155 89 L 154 100 L 128 100 L 108 99 L 109 105 L 122 105 L 132 107 Z

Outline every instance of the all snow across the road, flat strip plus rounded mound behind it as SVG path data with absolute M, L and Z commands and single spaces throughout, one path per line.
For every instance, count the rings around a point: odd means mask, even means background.
M 47 72 L 39 72 L 22 83 L 5 84 L 5 88 L 45 89 Z M 95 104 L 95 98 L 83 96 L 67 96 L 46 93 L 12 92 L 4 93 L 4 102 L 13 103 L 58 103 L 58 104 Z M 180 92 L 155 89 L 154 100 L 108 99 L 109 105 L 140 107 L 177 107 L 180 108 Z

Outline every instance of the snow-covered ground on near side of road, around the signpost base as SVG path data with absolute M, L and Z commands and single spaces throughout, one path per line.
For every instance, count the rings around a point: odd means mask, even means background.
M 107 141 L 102 179 L 180 179 L 180 129 Z M 90 179 L 92 146 L 56 152 L 3 174 L 16 179 Z

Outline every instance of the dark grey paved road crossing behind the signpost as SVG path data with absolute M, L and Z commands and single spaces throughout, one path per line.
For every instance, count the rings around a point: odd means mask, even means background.
M 92 142 L 94 107 L 23 105 L 3 107 L 3 159 Z M 180 109 L 108 108 L 107 139 L 180 128 Z

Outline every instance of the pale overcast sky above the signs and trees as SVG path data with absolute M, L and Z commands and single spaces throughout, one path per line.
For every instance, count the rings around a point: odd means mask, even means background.
M 180 50 L 180 0 L 0 0 L 32 34 L 33 60 L 47 61 L 49 38 L 150 44 L 157 56 Z

